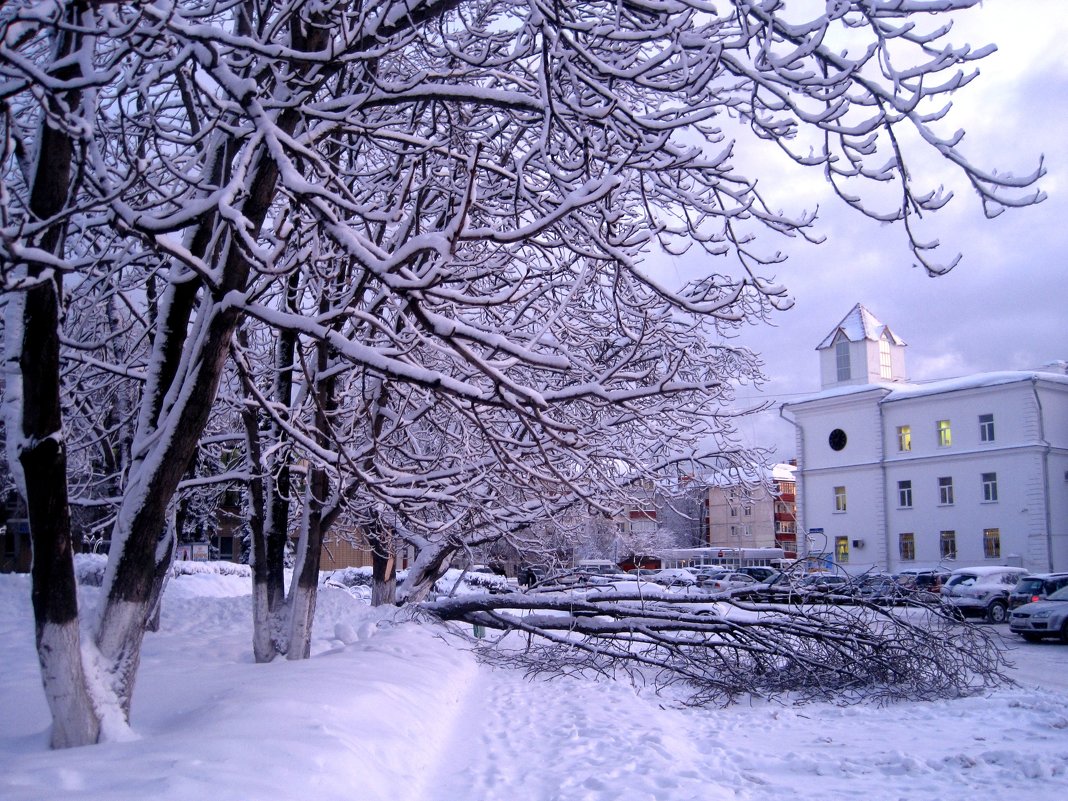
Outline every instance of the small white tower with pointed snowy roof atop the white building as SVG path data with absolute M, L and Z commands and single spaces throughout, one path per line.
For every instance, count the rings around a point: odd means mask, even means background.
M 816 350 L 822 388 L 906 380 L 905 340 L 858 303 Z

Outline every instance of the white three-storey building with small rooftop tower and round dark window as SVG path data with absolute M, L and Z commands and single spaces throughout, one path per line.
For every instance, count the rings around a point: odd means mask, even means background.
M 798 550 L 851 572 L 1068 570 L 1066 364 L 909 383 L 905 347 L 858 304 L 817 348 L 822 391 L 783 406 Z

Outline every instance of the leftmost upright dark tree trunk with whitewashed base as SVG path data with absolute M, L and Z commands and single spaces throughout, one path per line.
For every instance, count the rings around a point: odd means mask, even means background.
M 66 9 L 67 26 L 57 28 L 51 64 L 63 63 L 57 78 L 79 72 L 72 54 L 81 47 L 77 33 L 81 9 Z M 77 109 L 81 96 L 66 92 L 50 98 L 57 120 L 46 115 L 40 128 L 30 213 L 49 220 L 67 205 L 70 194 L 74 142 L 62 130 L 66 109 Z M 63 108 L 59 108 L 59 107 Z M 62 256 L 63 222 L 53 222 L 40 247 Z M 12 471 L 26 500 L 33 548 L 31 569 L 34 635 L 45 697 L 52 716 L 52 748 L 96 742 L 100 722 L 93 707 L 81 659 L 78 595 L 70 541 L 70 506 L 66 483 L 66 449 L 60 407 L 60 273 L 48 276 L 37 265 L 29 278 L 42 279 L 20 298 L 9 299 L 4 331 L 7 363 L 17 364 L 7 378 L 7 437 Z M 17 465 L 14 461 L 17 460 Z

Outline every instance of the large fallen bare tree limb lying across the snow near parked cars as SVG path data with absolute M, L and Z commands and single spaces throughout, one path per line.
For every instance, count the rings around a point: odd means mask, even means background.
M 1010 681 L 995 634 L 944 614 L 934 602 L 820 600 L 764 604 L 639 585 L 472 594 L 421 608 L 442 621 L 506 632 L 475 641 L 487 661 L 531 676 L 625 678 L 679 693 L 695 706 L 754 695 L 929 701 Z

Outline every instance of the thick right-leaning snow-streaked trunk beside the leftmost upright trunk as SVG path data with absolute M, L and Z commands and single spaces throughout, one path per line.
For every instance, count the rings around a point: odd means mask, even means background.
M 321 46 L 326 32 L 318 28 L 295 32 L 309 49 Z M 279 113 L 279 131 L 292 134 L 301 120 L 299 109 Z M 267 147 L 249 159 L 249 180 L 241 213 L 250 232 L 258 231 L 277 194 L 279 167 Z M 215 230 L 216 215 L 201 223 L 194 239 Z M 141 659 L 144 623 L 159 597 L 163 577 L 174 549 L 173 536 L 164 529 L 168 503 L 177 489 L 207 424 L 211 406 L 230 351 L 231 339 L 240 320 L 239 308 L 224 302 L 229 293 L 245 289 L 251 264 L 235 239 L 218 255 L 221 281 L 213 292 L 201 293 L 193 323 L 188 327 L 161 324 L 153 342 L 150 375 L 170 377 L 170 384 L 157 382 L 153 397 L 161 397 L 158 413 L 138 421 L 135 464 L 123 497 L 112 535 L 112 553 L 105 575 L 105 603 L 96 632 L 96 646 L 110 662 L 109 680 L 124 713 L 129 716 L 134 679 Z M 164 307 L 180 305 L 187 298 L 188 277 L 174 268 L 172 283 L 164 293 Z M 180 342 L 180 347 L 177 343 Z M 173 356 L 182 352 L 184 370 L 170 373 Z M 157 394 L 158 393 L 158 394 Z M 317 565 L 317 563 L 316 563 Z

